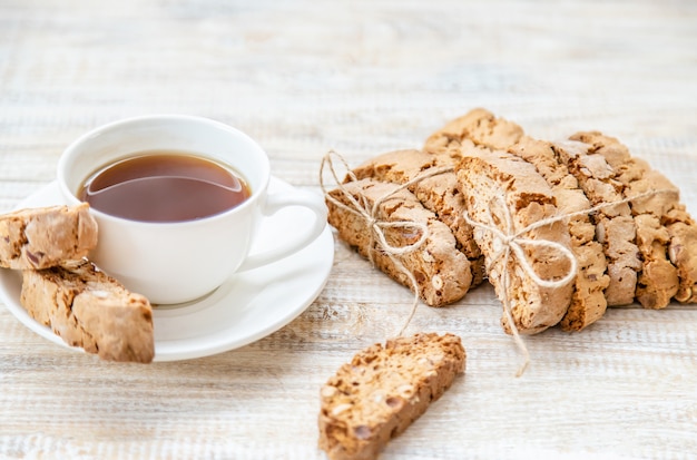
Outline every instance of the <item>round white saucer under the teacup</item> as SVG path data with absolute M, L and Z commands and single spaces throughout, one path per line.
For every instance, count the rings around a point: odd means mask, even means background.
M 272 177 L 269 192 L 292 186 Z M 47 185 L 18 207 L 61 204 L 58 184 Z M 283 209 L 262 224 L 252 252 L 273 246 L 303 228 L 304 212 Z M 185 305 L 155 309 L 155 361 L 176 361 L 222 353 L 255 342 L 288 324 L 317 297 L 332 270 L 334 242 L 328 227 L 307 247 L 285 260 L 240 272 L 212 294 Z M 53 332 L 20 305 L 21 275 L 0 268 L 0 298 L 27 327 L 60 345 Z M 80 350 L 81 349 L 73 349 Z

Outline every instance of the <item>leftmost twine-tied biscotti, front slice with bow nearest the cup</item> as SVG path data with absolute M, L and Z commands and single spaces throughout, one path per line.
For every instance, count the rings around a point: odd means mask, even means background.
M 400 189 L 395 184 L 362 179 L 342 184 L 341 188 L 330 192 L 338 203 L 353 208 L 346 194 L 371 209 L 375 202 L 382 200 L 376 209 L 375 219 L 394 223 L 421 223 L 426 225 L 428 238 L 415 251 L 393 255 L 414 275 L 419 285 L 419 295 L 431 306 L 442 306 L 455 302 L 467 294 L 472 282 L 470 261 L 457 247 L 452 232 L 440 222 L 435 214 L 424 208 L 421 202 L 409 190 Z M 326 199 L 328 223 L 337 229 L 338 237 L 355 247 L 364 257 L 372 258 L 375 266 L 399 283 L 413 288 L 408 275 L 389 256 L 372 236 L 372 228 L 365 216 L 338 206 Z M 416 243 L 421 233 L 413 226 L 384 228 L 389 244 L 402 247 Z

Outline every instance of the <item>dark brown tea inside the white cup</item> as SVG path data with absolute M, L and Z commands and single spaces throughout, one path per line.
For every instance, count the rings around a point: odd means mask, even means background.
M 239 205 L 246 183 L 222 165 L 194 155 L 147 151 L 92 174 L 78 197 L 102 213 L 141 222 L 184 222 Z

